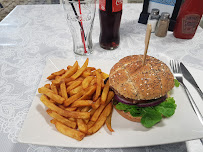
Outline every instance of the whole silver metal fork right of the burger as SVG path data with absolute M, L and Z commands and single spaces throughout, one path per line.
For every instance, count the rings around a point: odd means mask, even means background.
M 199 108 L 197 107 L 195 101 L 193 100 L 190 92 L 188 91 L 187 87 L 185 86 L 185 84 L 183 83 L 183 74 L 180 68 L 180 63 L 178 61 L 175 60 L 170 60 L 170 67 L 174 73 L 175 78 L 178 80 L 178 82 L 181 84 L 181 86 L 184 88 L 185 93 L 190 101 L 190 104 L 194 110 L 194 112 L 196 113 L 197 117 L 199 118 L 201 124 L 203 125 L 203 116 L 199 111 Z

